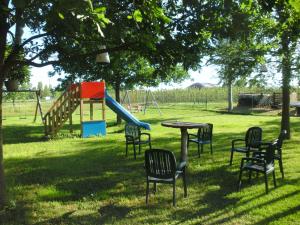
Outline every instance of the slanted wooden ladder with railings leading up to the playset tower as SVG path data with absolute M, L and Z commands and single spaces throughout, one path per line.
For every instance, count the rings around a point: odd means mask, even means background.
M 44 116 L 45 135 L 55 136 L 80 105 L 80 86 L 73 84 L 54 102 Z

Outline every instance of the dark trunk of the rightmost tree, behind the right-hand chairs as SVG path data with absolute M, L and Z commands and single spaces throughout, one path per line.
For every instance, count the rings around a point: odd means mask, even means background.
M 281 130 L 287 131 L 287 138 L 290 139 L 290 82 L 292 77 L 291 71 L 291 52 L 289 49 L 289 41 L 286 35 L 281 39 L 282 47 L 282 115 Z

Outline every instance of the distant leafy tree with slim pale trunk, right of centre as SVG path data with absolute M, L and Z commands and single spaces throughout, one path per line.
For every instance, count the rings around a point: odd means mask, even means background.
M 270 44 L 264 41 L 264 26 L 268 19 L 259 14 L 252 1 L 224 1 L 217 11 L 218 29 L 212 32 L 209 63 L 218 65 L 218 74 L 228 87 L 228 110 L 233 109 L 232 85 L 247 83 L 250 75 L 259 72 L 259 64 Z

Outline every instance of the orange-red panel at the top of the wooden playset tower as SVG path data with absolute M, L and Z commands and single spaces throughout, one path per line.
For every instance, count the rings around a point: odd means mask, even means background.
M 105 82 L 82 82 L 80 98 L 104 98 Z

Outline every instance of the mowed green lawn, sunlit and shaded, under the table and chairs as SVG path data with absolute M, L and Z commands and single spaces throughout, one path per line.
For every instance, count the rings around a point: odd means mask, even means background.
M 172 206 L 171 185 L 158 185 L 145 204 L 144 151 L 137 160 L 132 150 L 125 157 L 124 124 L 115 126 L 110 110 L 107 136 L 87 139 L 77 137 L 78 118 L 74 135 L 65 129 L 58 138 L 44 141 L 43 127 L 33 124 L 33 118 L 16 117 L 4 121 L 9 207 L 0 213 L 2 224 L 300 224 L 299 118 L 291 118 L 292 139 L 284 143 L 285 179 L 276 164 L 278 187 L 269 176 L 266 195 L 263 176 L 251 184 L 245 176 L 242 190 L 236 191 L 242 155 L 235 154 L 229 166 L 230 145 L 250 126 L 262 127 L 264 140 L 274 139 L 279 116 L 233 115 L 193 104 L 165 105 L 161 110 L 163 115 L 150 109 L 135 116 L 151 123 L 153 147 L 170 149 L 178 159 L 180 131 L 162 127 L 162 121 L 214 124 L 213 155 L 205 146 L 198 158 L 196 145 L 191 145 L 188 197 L 183 197 L 179 179 L 177 207 Z

